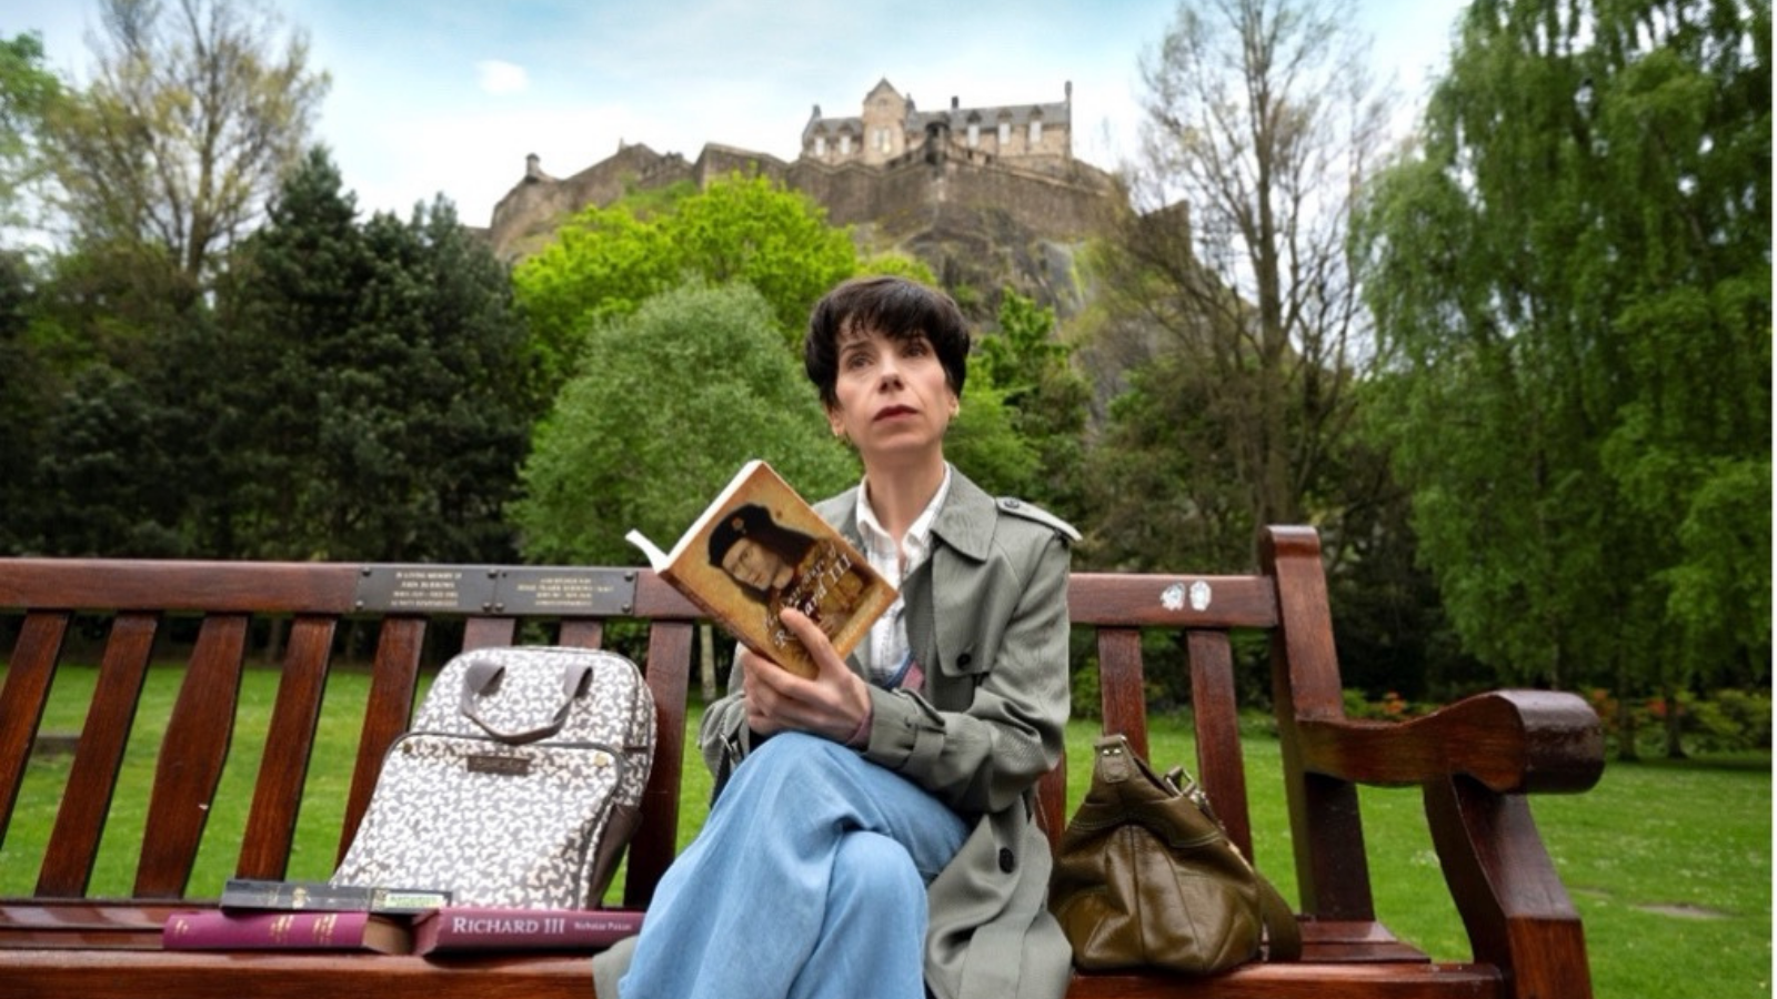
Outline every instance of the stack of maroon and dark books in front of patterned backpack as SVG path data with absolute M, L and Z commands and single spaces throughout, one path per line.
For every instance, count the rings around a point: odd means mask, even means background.
M 229 880 L 217 908 L 176 912 L 160 942 L 169 951 L 597 951 L 634 935 L 626 908 L 498 908 L 451 905 L 450 892 Z

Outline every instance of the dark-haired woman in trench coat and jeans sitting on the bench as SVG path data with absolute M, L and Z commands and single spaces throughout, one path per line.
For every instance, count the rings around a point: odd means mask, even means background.
M 814 679 L 737 656 L 700 731 L 732 775 L 641 935 L 595 958 L 601 999 L 1066 990 L 1032 795 L 1068 716 L 1077 535 L 945 462 L 967 357 L 956 304 L 912 281 L 855 279 L 814 308 L 805 368 L 864 460 L 817 508 L 901 599 L 849 663 L 785 610 Z

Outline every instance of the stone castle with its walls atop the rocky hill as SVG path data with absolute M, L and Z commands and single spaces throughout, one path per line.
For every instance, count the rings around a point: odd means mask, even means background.
M 524 178 L 494 206 L 489 238 L 499 256 L 515 260 L 588 204 L 684 180 L 702 188 L 739 171 L 801 190 L 826 208 L 830 222 L 887 242 L 984 228 L 1079 240 L 1118 188 L 1107 172 L 1073 158 L 1073 85 L 1063 94 L 1059 103 L 979 108 L 951 98 L 947 108 L 919 110 L 910 94 L 881 80 L 857 116 L 825 117 L 814 105 L 801 153 L 789 164 L 716 144 L 704 146 L 695 162 L 622 144 L 610 158 L 554 178 L 533 155 Z

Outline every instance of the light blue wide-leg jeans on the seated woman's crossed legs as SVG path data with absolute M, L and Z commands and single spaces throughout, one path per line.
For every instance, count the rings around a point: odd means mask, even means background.
M 922 999 L 926 885 L 968 828 L 855 750 L 773 736 L 649 905 L 624 999 Z

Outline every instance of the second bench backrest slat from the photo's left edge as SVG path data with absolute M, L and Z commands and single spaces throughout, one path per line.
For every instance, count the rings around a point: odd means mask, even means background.
M 98 688 L 87 709 L 87 722 L 68 771 L 62 805 L 43 855 L 37 876 L 39 896 L 80 898 L 92 878 L 92 860 L 100 850 L 123 752 L 130 741 L 135 709 L 142 699 L 147 658 L 155 647 L 158 619 L 147 613 L 117 615 L 100 659 Z

